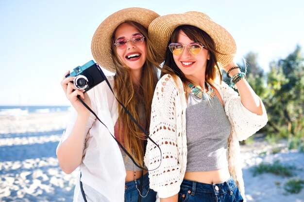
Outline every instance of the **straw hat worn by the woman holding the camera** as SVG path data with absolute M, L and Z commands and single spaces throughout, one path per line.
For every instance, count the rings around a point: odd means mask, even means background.
M 95 61 L 106 70 L 116 72 L 111 52 L 112 34 L 121 23 L 134 21 L 147 28 L 156 17 L 155 12 L 144 8 L 126 8 L 108 16 L 95 31 L 91 51 Z

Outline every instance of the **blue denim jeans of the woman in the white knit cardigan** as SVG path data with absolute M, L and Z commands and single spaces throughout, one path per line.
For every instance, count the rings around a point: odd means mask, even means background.
M 212 185 L 184 179 L 178 202 L 243 202 L 243 198 L 232 177 Z

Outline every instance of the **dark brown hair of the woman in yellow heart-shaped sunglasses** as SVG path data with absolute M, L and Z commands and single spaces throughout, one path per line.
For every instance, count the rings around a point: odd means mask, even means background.
M 173 54 L 169 49 L 170 43 L 177 42 L 179 31 L 184 31 L 187 37 L 189 37 L 189 39 L 193 40 L 194 42 L 202 43 L 204 45 L 203 48 L 208 50 L 210 55 L 210 60 L 207 61 L 205 80 L 211 82 L 215 81 L 218 71 L 220 74 L 220 82 L 221 82 L 222 75 L 221 75 L 220 67 L 218 65 L 217 58 L 215 56 L 216 53 L 219 54 L 221 53 L 216 50 L 213 39 L 205 31 L 191 25 L 181 25 L 172 32 L 165 54 L 165 61 L 164 61 L 161 76 L 165 74 L 170 74 L 174 78 L 174 80 L 176 80 L 176 76 L 178 76 L 183 81 L 184 89 L 186 89 L 185 88 L 186 81 L 193 83 L 191 80 L 187 79 L 184 73 L 178 68 L 178 66 L 174 62 Z

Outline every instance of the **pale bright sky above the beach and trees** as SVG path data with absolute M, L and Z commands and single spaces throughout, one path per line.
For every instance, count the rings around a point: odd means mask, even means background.
M 253 51 L 265 71 L 304 48 L 303 0 L 0 0 L 0 106 L 70 105 L 64 74 L 93 60 L 97 27 L 129 7 L 203 12 L 234 37 L 236 61 Z

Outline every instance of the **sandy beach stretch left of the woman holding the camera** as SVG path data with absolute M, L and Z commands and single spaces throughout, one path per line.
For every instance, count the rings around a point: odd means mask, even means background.
M 0 116 L 0 202 L 71 202 L 77 170 L 59 168 L 56 147 L 69 112 Z

